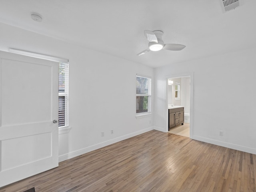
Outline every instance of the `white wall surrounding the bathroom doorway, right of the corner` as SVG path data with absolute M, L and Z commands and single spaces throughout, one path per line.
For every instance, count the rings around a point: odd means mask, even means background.
M 256 48 L 156 68 L 157 129 L 167 131 L 166 77 L 190 74 L 192 138 L 256 154 L 255 52 Z M 220 130 L 224 136 L 219 136 Z

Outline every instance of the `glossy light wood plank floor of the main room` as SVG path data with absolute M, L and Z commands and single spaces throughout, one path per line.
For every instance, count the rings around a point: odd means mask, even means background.
M 150 131 L 0 192 L 255 192 L 256 155 Z

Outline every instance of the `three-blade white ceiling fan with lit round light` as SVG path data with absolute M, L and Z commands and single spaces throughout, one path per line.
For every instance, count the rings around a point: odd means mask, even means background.
M 159 31 L 159 30 L 157 30 L 157 31 L 145 30 L 144 35 L 146 36 L 146 38 L 149 41 L 148 48 L 146 50 L 138 53 L 137 55 L 140 56 L 142 54 L 145 54 L 146 52 L 159 51 L 161 49 L 166 49 L 166 50 L 170 50 L 170 51 L 180 51 L 186 47 L 181 44 L 164 44 L 164 42 L 162 40 L 163 34 L 164 34 L 164 32 Z

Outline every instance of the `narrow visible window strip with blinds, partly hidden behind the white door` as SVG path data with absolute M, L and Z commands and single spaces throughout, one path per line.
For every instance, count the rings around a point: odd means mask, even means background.
M 68 126 L 68 63 L 59 62 L 59 127 Z

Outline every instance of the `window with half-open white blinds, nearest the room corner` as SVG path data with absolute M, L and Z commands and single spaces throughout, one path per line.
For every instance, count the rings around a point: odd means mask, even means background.
M 136 77 L 136 114 L 151 112 L 151 78 Z

